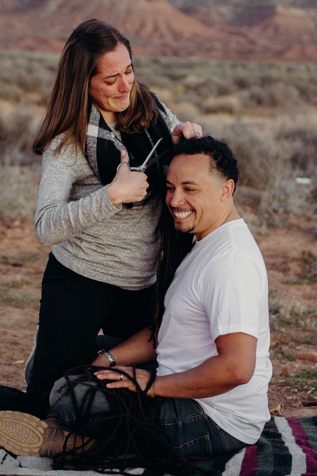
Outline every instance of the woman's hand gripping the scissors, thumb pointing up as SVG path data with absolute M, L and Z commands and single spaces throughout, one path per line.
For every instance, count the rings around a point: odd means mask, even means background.
M 128 162 L 125 150 L 121 151 L 121 162 Z M 123 164 L 117 170 L 115 178 L 108 185 L 108 195 L 114 207 L 120 203 L 140 202 L 146 195 L 149 184 L 143 172 L 132 172 L 128 164 Z

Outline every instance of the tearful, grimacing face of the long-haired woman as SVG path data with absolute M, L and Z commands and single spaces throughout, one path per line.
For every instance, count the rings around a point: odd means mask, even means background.
M 124 111 L 130 102 L 134 81 L 128 50 L 119 43 L 115 50 L 105 53 L 91 77 L 88 94 L 106 123 L 115 122 L 115 113 Z

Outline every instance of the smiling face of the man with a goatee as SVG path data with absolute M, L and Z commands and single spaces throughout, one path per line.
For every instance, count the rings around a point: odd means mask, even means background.
M 223 223 L 223 179 L 209 171 L 205 154 L 174 157 L 168 170 L 166 204 L 175 228 L 202 239 Z

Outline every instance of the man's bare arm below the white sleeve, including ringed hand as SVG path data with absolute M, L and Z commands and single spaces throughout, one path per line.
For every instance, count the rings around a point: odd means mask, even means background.
M 190 370 L 156 377 L 148 396 L 207 398 L 248 383 L 255 368 L 257 339 L 249 334 L 236 332 L 219 336 L 215 342 L 218 356 L 210 357 Z M 128 373 L 131 372 L 127 370 L 128 367 L 123 369 Z M 144 372 L 139 370 L 136 373 L 141 388 L 145 388 L 149 379 Z M 118 374 L 111 374 L 111 370 L 102 370 L 97 376 L 100 379 L 120 378 Z M 126 377 L 121 381 L 107 384 L 107 387 L 126 387 L 135 391 L 133 383 Z

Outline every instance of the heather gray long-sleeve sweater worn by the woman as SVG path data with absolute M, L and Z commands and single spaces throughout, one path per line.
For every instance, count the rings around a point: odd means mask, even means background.
M 171 130 L 179 121 L 167 108 Z M 35 234 L 55 245 L 58 261 L 76 273 L 124 289 L 155 282 L 161 198 L 153 194 L 143 207 L 114 207 L 85 155 L 69 146 L 54 155 L 55 138 L 43 153 L 35 213 Z

